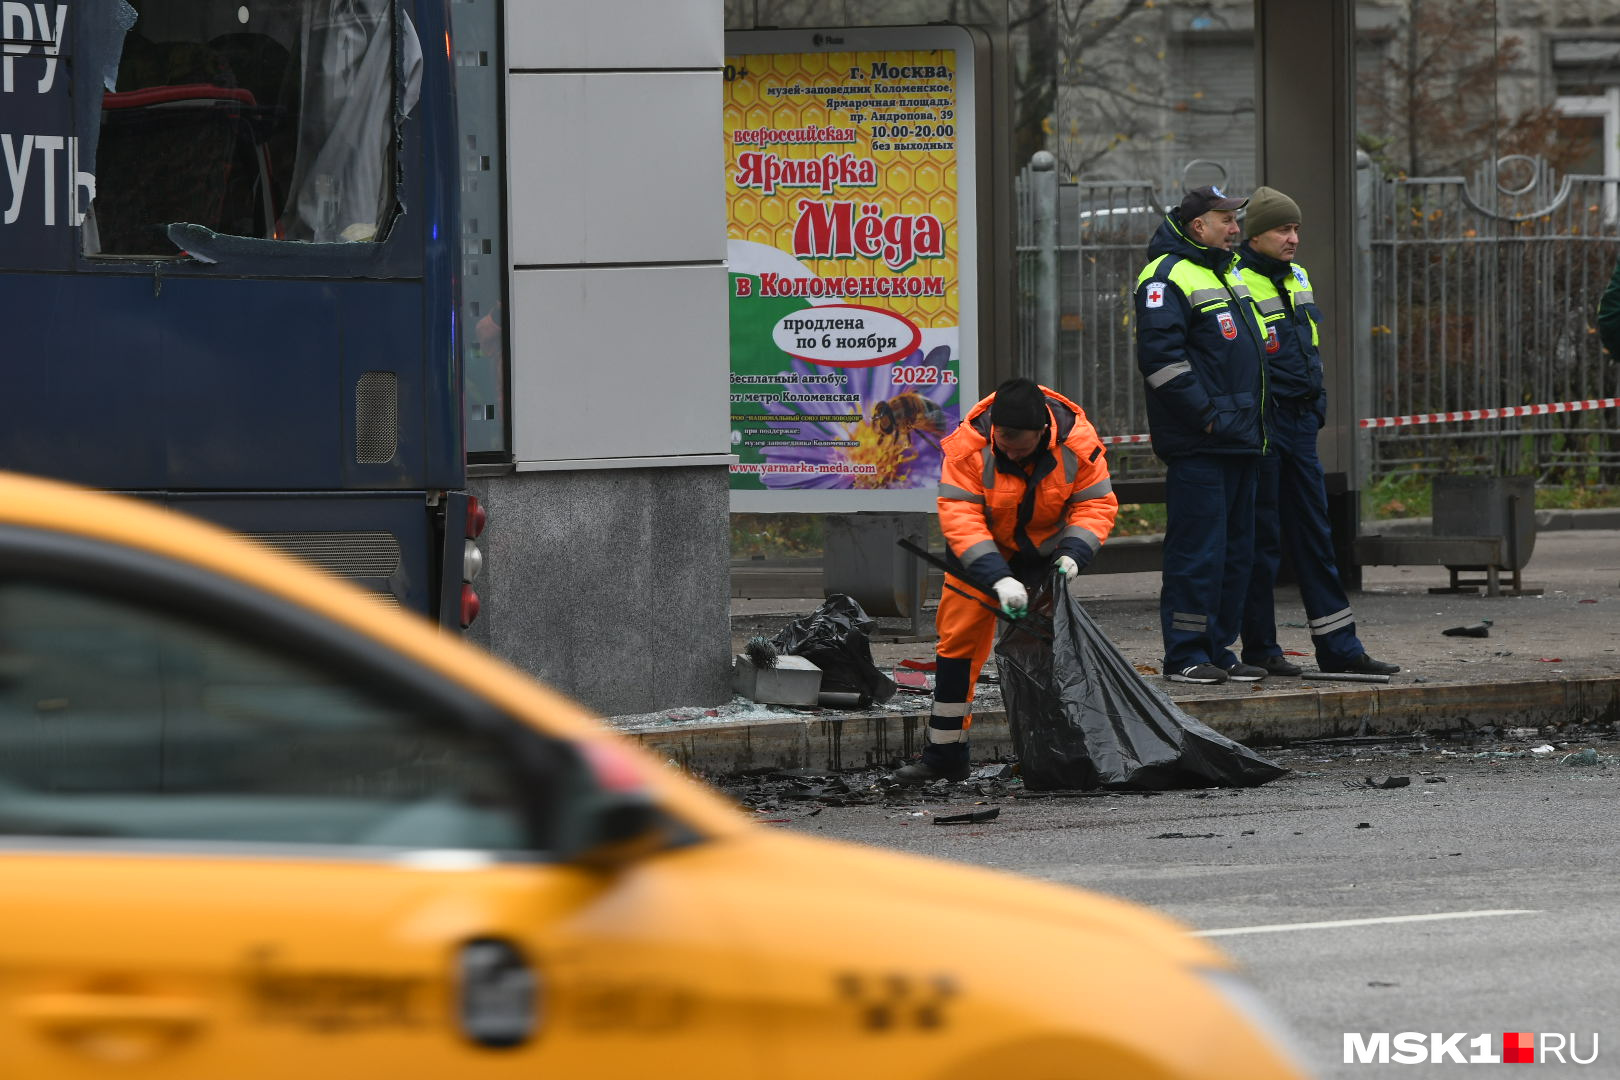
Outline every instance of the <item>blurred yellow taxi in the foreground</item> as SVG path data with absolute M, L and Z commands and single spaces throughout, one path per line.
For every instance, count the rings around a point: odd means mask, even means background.
M 585 1075 L 1302 1074 L 1144 908 L 766 831 L 347 585 L 0 474 L 0 1077 Z

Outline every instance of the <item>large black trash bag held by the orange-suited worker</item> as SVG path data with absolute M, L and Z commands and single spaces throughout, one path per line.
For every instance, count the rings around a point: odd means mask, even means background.
M 1066 588 L 1042 585 L 1029 623 L 996 641 L 1001 698 L 1032 792 L 1257 787 L 1288 769 L 1183 712 L 1144 680 Z

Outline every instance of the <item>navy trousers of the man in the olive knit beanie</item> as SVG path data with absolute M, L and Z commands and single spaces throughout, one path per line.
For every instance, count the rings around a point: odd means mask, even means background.
M 1277 567 L 1281 552 L 1294 567 L 1319 664 L 1343 667 L 1366 649 L 1356 615 L 1338 581 L 1327 484 L 1317 458 L 1317 415 L 1309 405 L 1278 402 L 1270 411 L 1272 450 L 1260 463 L 1254 508 L 1254 575 L 1243 607 L 1243 659 L 1281 656 L 1277 644 Z

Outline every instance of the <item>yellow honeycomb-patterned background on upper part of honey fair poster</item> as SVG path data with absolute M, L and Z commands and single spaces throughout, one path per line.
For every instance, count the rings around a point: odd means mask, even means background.
M 812 274 L 821 277 L 859 275 L 859 277 L 919 277 L 943 275 L 946 279 L 944 296 L 850 296 L 849 303 L 886 308 L 909 317 L 922 327 L 959 325 L 959 296 L 956 287 L 957 259 L 957 201 L 956 201 L 956 152 L 954 151 L 873 151 L 870 123 L 852 125 L 844 110 L 833 110 L 820 97 L 784 96 L 773 97 L 771 89 L 791 86 L 844 86 L 850 66 L 872 70 L 873 62 L 886 62 L 894 66 L 923 65 L 949 66 L 956 70 L 956 57 L 949 52 L 932 50 L 896 50 L 896 52 L 826 52 L 826 53 L 774 53 L 727 57 L 739 76 L 726 83 L 726 193 L 731 201 L 727 235 L 732 240 L 752 240 L 755 243 L 792 251 L 794 225 L 797 223 L 795 206 L 805 194 L 815 189 L 778 189 L 774 194 L 758 191 L 739 191 L 734 180 L 737 175 L 737 157 L 745 151 L 757 151 L 757 146 L 739 146 L 732 141 L 732 133 L 748 128 L 807 128 L 807 126 L 839 126 L 855 128 L 855 142 L 795 142 L 774 144 L 770 149 L 782 157 L 820 157 L 826 152 L 857 154 L 872 157 L 878 164 L 878 186 L 873 188 L 838 188 L 836 199 L 860 199 L 876 202 L 885 217 L 889 214 L 933 214 L 946 230 L 944 257 L 919 259 L 899 275 L 893 274 L 883 259 L 805 259 L 802 264 Z M 742 74 L 742 73 L 747 74 Z M 953 78 L 954 83 L 954 78 Z M 849 83 L 852 92 L 859 84 Z M 859 92 L 867 92 L 860 87 Z M 889 94 L 899 99 L 899 108 L 906 107 L 907 97 L 936 97 L 933 92 Z M 954 108 L 954 105 L 953 105 Z M 956 117 L 953 115 L 953 121 Z

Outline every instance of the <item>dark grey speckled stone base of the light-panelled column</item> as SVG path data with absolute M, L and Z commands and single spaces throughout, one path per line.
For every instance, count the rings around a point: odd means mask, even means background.
M 468 638 L 608 716 L 731 699 L 723 466 L 505 473 L 468 487 L 489 512 Z

